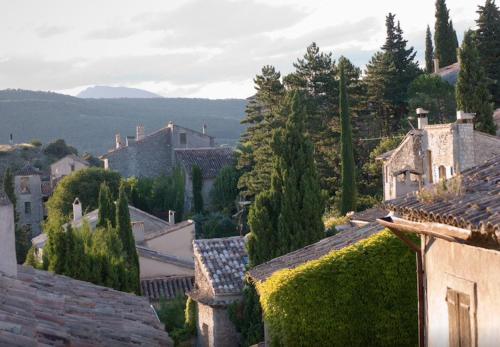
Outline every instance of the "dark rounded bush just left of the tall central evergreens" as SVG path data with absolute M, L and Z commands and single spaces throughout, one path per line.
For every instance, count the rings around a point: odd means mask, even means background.
M 235 212 L 239 179 L 240 173 L 234 166 L 225 166 L 220 170 L 210 192 L 214 211 L 222 211 L 227 214 Z

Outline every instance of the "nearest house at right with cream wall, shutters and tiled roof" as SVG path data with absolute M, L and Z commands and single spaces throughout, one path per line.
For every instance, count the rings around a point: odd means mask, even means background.
M 420 346 L 500 341 L 500 156 L 462 171 L 458 182 L 431 199 L 388 201 L 392 216 L 379 220 L 417 254 Z

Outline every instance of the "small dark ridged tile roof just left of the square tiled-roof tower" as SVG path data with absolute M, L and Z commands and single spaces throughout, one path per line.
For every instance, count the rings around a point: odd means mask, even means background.
M 167 276 L 141 280 L 141 293 L 150 302 L 174 299 L 194 287 L 194 276 Z

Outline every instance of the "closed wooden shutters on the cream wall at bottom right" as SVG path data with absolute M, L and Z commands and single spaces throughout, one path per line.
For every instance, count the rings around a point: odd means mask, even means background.
M 446 292 L 448 303 L 449 346 L 471 347 L 471 301 L 470 296 L 448 288 Z

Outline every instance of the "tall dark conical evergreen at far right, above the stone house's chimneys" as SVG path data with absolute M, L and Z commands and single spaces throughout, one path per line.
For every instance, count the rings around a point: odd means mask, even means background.
M 465 33 L 459 54 L 461 63 L 456 85 L 457 109 L 475 113 L 475 128 L 495 134 L 491 94 L 473 31 Z

